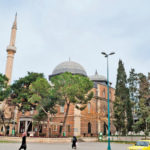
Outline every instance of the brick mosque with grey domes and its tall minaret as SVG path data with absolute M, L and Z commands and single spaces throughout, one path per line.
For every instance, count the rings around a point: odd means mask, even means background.
M 17 15 L 12 27 L 10 44 L 7 47 L 7 63 L 6 73 L 9 82 L 11 83 L 12 67 L 14 54 L 16 53 L 15 39 L 17 31 Z M 49 80 L 52 76 L 71 72 L 72 74 L 80 74 L 89 77 L 93 81 L 93 99 L 87 104 L 87 107 L 83 110 L 77 110 L 72 104 L 69 109 L 66 125 L 63 128 L 65 136 L 97 136 L 99 132 L 104 135 L 107 134 L 108 119 L 107 119 L 107 79 L 105 76 L 99 75 L 96 71 L 94 75 L 88 76 L 86 70 L 77 62 L 65 61 L 57 65 L 52 74 L 49 75 Z M 115 127 L 113 125 L 113 101 L 115 99 L 115 89 L 109 88 L 110 94 L 110 122 L 111 122 L 111 134 L 115 133 Z M 1 104 L 2 106 L 3 104 Z M 38 135 L 37 127 L 33 125 L 33 115 L 36 114 L 36 110 L 30 112 L 19 112 L 15 106 L 9 106 L 7 104 L 7 114 L 13 111 L 14 115 L 12 123 L 7 127 L 7 134 L 12 135 L 12 129 L 15 127 L 15 134 L 21 135 L 27 128 L 28 132 L 33 136 Z M 57 114 L 52 118 L 50 123 L 50 136 L 57 137 L 62 129 L 62 122 L 66 111 L 66 105 L 57 106 Z M 7 116 L 7 115 L 6 115 Z M 14 124 L 15 122 L 15 124 Z M 29 125 L 29 126 L 28 126 Z M 47 122 L 43 121 L 39 131 L 40 136 L 46 135 Z M 3 124 L 0 122 L 0 134 L 4 133 Z

